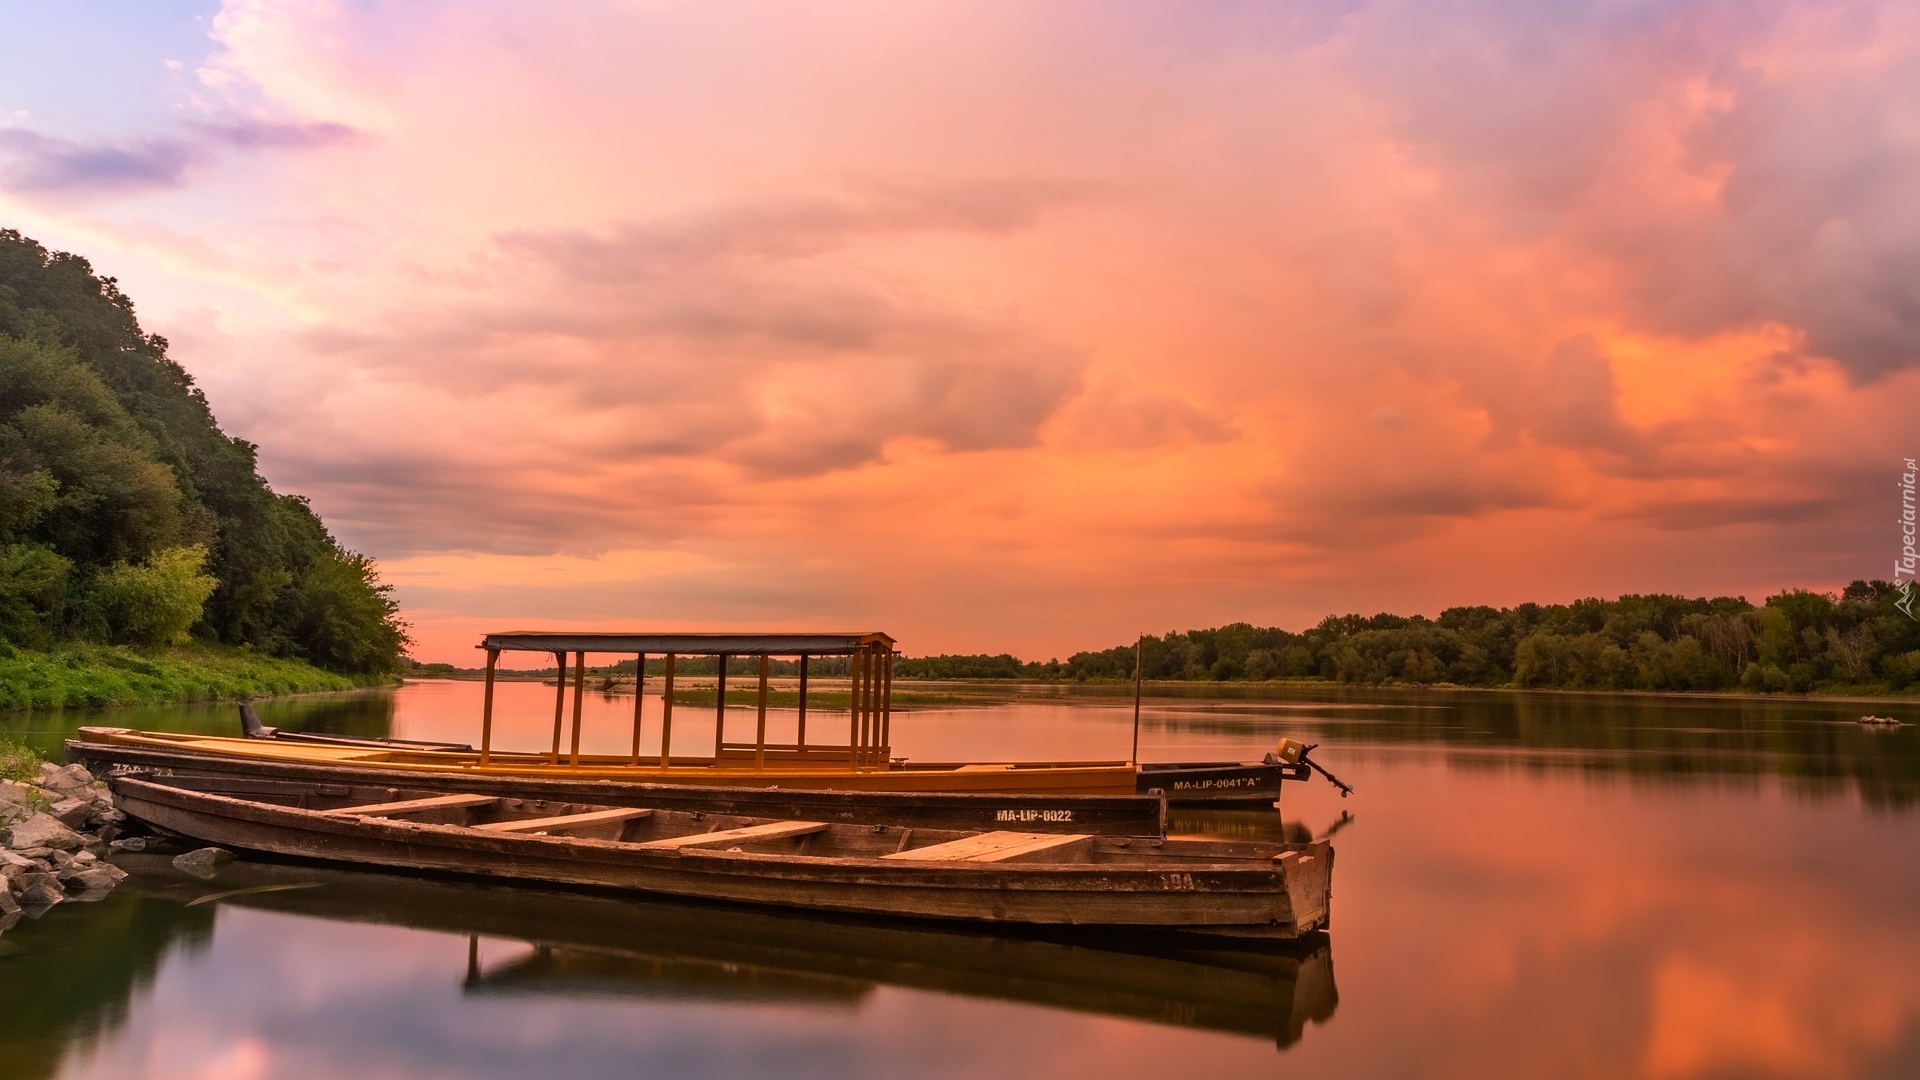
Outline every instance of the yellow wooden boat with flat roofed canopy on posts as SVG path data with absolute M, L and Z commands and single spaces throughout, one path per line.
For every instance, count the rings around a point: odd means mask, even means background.
M 887 634 L 490 634 L 482 648 L 486 692 L 480 711 L 480 749 L 461 744 L 422 744 L 409 740 L 340 738 L 311 732 L 280 732 L 248 719 L 250 738 L 179 736 L 125 728 L 83 728 L 83 740 L 109 748 L 138 748 L 204 757 L 242 757 L 253 761 L 300 761 L 336 769 L 386 769 L 407 773 L 505 774 L 564 780 L 607 780 L 614 784 L 680 784 L 732 788 L 803 788 L 843 792 L 1037 792 L 1037 794 L 1144 794 L 1165 792 L 1169 801 L 1271 803 L 1281 780 L 1306 780 L 1306 761 L 1204 761 L 1146 765 L 1137 761 L 906 761 L 893 755 L 893 638 Z M 551 653 L 561 678 L 553 701 L 553 744 L 543 753 L 493 748 L 493 684 L 501 651 Z M 582 753 L 582 709 L 588 694 L 586 655 L 616 653 L 637 657 L 636 671 L 645 682 L 649 653 L 664 657 L 659 724 L 659 753 L 641 753 L 641 709 L 645 694 L 636 688 L 632 751 L 624 755 Z M 797 730 L 791 744 L 768 740 L 768 676 L 772 657 L 795 657 L 799 671 Z M 572 728 L 566 728 L 566 663 L 572 657 Z M 714 657 L 714 746 L 712 753 L 689 755 L 674 749 L 676 661 Z M 728 661 L 758 661 L 758 696 L 753 742 L 728 742 Z M 849 671 L 847 742 L 822 742 L 814 719 L 808 740 L 808 663 L 831 659 Z M 839 723 L 835 719 L 835 723 Z M 564 746 L 564 749 L 563 749 Z M 104 751 L 100 751 L 104 753 Z

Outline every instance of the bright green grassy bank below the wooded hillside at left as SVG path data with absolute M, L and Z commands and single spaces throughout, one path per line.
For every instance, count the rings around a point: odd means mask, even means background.
M 380 682 L 386 678 L 334 675 L 298 659 L 225 646 L 136 650 L 73 644 L 29 651 L 0 644 L 0 709 L 232 701 Z

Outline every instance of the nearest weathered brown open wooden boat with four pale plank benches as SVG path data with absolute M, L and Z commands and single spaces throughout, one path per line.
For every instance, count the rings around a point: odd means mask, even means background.
M 954 832 L 217 776 L 111 784 L 127 815 L 223 847 L 864 917 L 1283 942 L 1327 924 L 1332 880 L 1327 842 Z

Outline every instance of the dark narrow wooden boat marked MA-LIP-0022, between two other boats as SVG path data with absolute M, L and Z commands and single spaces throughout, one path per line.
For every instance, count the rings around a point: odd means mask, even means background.
M 194 736 L 154 736 L 115 742 L 125 728 L 81 728 L 67 740 L 67 761 L 96 774 L 144 769 L 175 774 L 225 776 L 228 780 L 301 780 L 365 788 L 419 788 L 468 792 L 513 799 L 545 799 L 655 809 L 728 813 L 745 817 L 831 821 L 839 824 L 899 824 L 906 828 L 1021 828 L 1027 832 L 1092 832 L 1102 836 L 1162 836 L 1167 822 L 1165 796 L 1079 796 L 1002 792 L 824 792 L 808 788 L 710 788 L 586 780 L 568 771 L 549 776 L 509 773 L 351 767 L 326 761 L 284 761 L 238 753 L 205 753 Z

